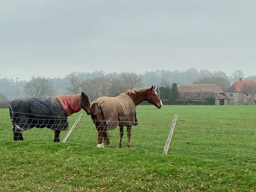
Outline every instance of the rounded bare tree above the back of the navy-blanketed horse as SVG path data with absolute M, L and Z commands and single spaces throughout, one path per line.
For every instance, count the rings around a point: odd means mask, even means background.
M 24 93 L 27 97 L 43 99 L 54 95 L 53 85 L 45 77 L 35 77 L 27 82 L 24 86 Z

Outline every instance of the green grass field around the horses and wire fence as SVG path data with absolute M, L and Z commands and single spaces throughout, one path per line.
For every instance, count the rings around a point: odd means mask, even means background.
M 84 113 L 66 143 L 47 128 L 12 141 L 8 110 L 0 109 L 0 191 L 256 191 L 256 106 L 138 106 L 131 148 L 97 148 Z M 167 155 L 163 147 L 178 120 Z M 79 113 L 69 117 L 70 127 Z M 67 131 L 61 133 L 61 140 Z

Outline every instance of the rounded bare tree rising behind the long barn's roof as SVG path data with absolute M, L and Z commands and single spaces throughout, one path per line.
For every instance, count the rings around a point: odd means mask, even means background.
M 206 77 L 194 81 L 193 84 L 216 84 L 223 92 L 225 92 L 230 87 L 230 81 L 222 77 Z

